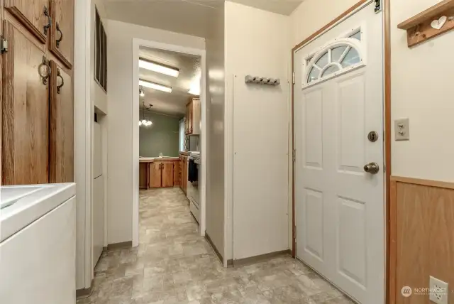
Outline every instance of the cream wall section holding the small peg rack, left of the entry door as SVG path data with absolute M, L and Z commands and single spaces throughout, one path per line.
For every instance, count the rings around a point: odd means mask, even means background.
M 289 17 L 227 1 L 225 23 L 226 172 L 233 172 L 226 247 L 228 259 L 243 259 L 289 248 Z M 248 74 L 281 85 L 245 85 Z

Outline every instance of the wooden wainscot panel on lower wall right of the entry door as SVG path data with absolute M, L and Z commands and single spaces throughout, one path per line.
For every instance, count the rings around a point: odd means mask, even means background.
M 392 178 L 390 303 L 426 304 L 428 294 L 404 298 L 403 286 L 428 288 L 429 276 L 454 284 L 454 185 Z M 452 295 L 452 294 L 450 294 Z M 454 303 L 454 297 L 448 297 Z

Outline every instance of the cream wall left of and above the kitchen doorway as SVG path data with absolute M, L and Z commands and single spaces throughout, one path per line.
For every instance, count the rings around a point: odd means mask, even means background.
M 106 31 L 115 33 L 109 36 L 107 45 L 108 243 L 114 244 L 133 239 L 133 38 L 201 50 L 205 43 L 203 38 L 120 21 L 108 20 L 105 26 Z

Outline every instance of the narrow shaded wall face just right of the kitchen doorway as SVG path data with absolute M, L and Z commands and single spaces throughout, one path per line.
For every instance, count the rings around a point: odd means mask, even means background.
M 206 38 L 206 234 L 224 252 L 224 8 L 213 11 Z

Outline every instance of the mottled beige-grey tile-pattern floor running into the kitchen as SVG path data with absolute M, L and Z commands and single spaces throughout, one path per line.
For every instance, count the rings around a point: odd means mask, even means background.
M 290 256 L 223 268 L 179 188 L 140 191 L 140 245 L 101 256 L 78 304 L 352 303 Z

